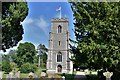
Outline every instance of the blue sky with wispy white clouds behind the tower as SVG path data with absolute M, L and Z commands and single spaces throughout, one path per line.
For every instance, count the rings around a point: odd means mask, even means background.
M 62 17 L 68 18 L 69 20 L 68 29 L 70 32 L 70 38 L 75 40 L 74 32 L 72 30 L 74 29 L 73 12 L 70 3 L 28 2 L 28 16 L 23 22 L 21 22 L 24 29 L 23 39 L 19 43 L 31 42 L 35 45 L 35 47 L 39 44 L 44 44 L 48 48 L 49 32 L 51 31 L 51 19 L 59 18 L 60 12 L 56 11 L 59 7 L 61 7 Z M 17 46 L 11 49 L 16 49 Z M 7 50 L 7 52 L 9 50 Z

